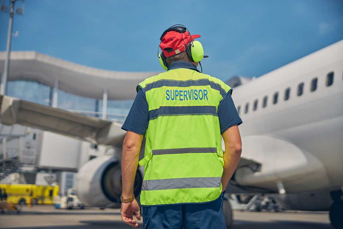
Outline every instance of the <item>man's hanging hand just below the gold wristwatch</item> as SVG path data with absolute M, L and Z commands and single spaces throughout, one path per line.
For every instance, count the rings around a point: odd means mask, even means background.
M 136 228 L 138 226 L 138 223 L 135 219 L 133 219 L 133 213 L 136 213 L 136 218 L 138 220 L 141 220 L 141 213 L 140 213 L 140 208 L 139 205 L 134 199 L 130 203 L 121 203 L 120 207 L 120 215 L 121 219 L 131 227 Z

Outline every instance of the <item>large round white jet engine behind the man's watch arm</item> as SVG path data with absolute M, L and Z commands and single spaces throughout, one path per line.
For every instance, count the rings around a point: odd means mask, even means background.
M 137 170 L 134 194 L 141 191 L 143 177 Z M 76 195 L 85 204 L 106 207 L 120 203 L 121 169 L 120 161 L 113 156 L 94 158 L 84 164 L 76 174 Z

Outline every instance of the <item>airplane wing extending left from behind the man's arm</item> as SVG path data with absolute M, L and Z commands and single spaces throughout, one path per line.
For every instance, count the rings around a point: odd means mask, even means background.
M 101 145 L 121 147 L 121 124 L 96 117 L 0 95 L 1 123 L 21 124 Z

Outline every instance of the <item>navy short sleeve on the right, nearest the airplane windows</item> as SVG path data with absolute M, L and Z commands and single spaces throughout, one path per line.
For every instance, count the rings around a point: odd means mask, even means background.
M 231 97 L 231 90 L 226 93 L 218 106 L 218 118 L 220 125 L 220 133 L 223 134 L 227 128 L 242 124 L 242 119 L 239 117 L 234 101 Z

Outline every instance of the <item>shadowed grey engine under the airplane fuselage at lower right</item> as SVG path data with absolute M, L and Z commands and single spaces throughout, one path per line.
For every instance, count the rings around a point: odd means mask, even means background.
M 292 210 L 327 211 L 332 204 L 330 191 L 290 193 L 275 195 L 276 201 Z

